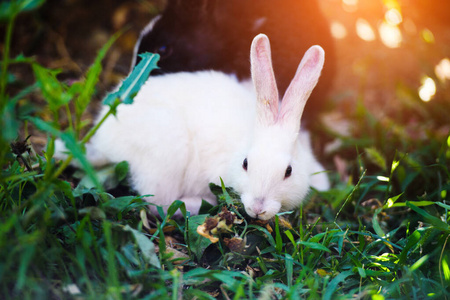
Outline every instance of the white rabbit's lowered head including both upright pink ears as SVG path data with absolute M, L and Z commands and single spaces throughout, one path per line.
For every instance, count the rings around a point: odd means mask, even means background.
M 308 193 L 315 160 L 311 148 L 299 138 L 300 119 L 318 82 L 325 54 L 320 46 L 305 53 L 281 105 L 266 35 L 254 38 L 250 56 L 256 118 L 253 140 L 242 157 L 237 190 L 247 213 L 267 220 L 282 209 L 298 206 Z

